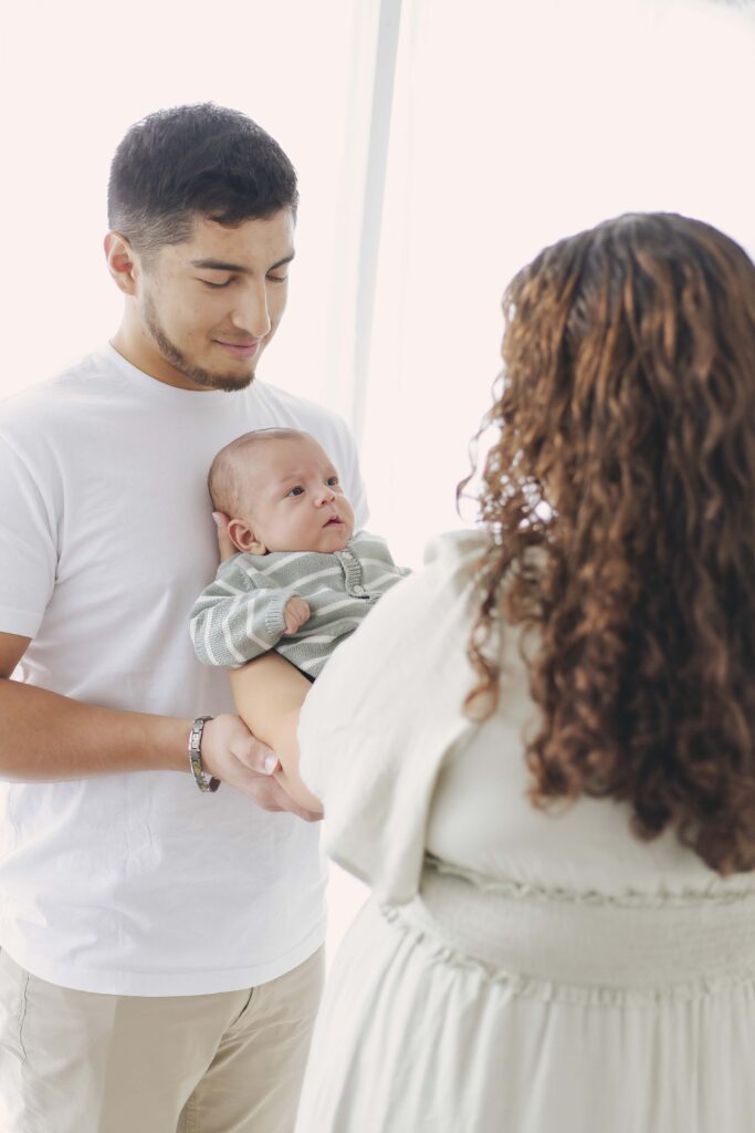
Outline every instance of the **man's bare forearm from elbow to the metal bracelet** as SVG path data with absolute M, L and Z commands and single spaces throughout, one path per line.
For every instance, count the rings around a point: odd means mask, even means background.
M 100 708 L 0 679 L 0 780 L 185 770 L 191 721 Z

